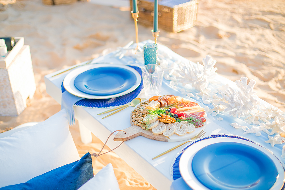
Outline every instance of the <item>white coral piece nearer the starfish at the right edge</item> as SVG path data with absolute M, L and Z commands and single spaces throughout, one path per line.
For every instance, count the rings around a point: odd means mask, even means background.
M 251 79 L 247 84 L 247 77 L 241 77 L 241 80 L 236 80 L 235 83 L 239 87 L 239 91 L 229 87 L 228 90 L 221 91 L 224 101 L 220 101 L 224 105 L 225 112 L 230 111 L 229 115 L 241 117 L 248 115 L 249 111 L 257 109 L 260 102 L 257 100 L 256 92 L 253 91 L 255 80 Z

